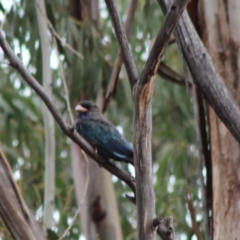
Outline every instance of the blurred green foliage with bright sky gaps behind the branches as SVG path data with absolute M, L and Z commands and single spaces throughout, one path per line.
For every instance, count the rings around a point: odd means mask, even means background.
M 47 17 L 62 38 L 74 46 L 84 58 L 73 54 L 64 44 L 52 42 L 51 68 L 53 73 L 54 104 L 64 118 L 67 113 L 65 92 L 59 63 L 70 91 L 70 102 L 78 99 L 96 100 L 99 89 L 106 94 L 113 63 L 118 54 L 111 21 L 103 0 L 99 0 L 100 22 L 79 22 L 70 15 L 68 1 L 46 0 Z M 42 66 L 35 1 L 0 2 L 1 20 L 6 17 L 3 30 L 7 41 L 24 65 L 41 83 Z M 118 1 L 122 19 L 126 19 L 129 1 Z M 130 45 L 139 74 L 148 56 L 150 42 L 163 20 L 161 9 L 153 0 L 139 1 L 130 34 Z M 51 35 L 51 31 L 49 31 Z M 59 55 L 57 54 L 59 52 Z M 0 141 L 13 168 L 14 178 L 23 192 L 27 205 L 42 221 L 44 130 L 41 100 L 21 79 L 0 51 Z M 171 44 L 163 62 L 182 74 L 181 58 L 176 44 Z M 124 67 L 114 98 L 107 109 L 107 118 L 121 126 L 129 141 L 133 134 L 133 103 Z M 53 230 L 60 236 L 70 223 L 76 209 L 70 141 L 56 126 L 56 197 Z M 177 239 L 196 239 L 193 234 L 186 194 L 192 195 L 196 219 L 202 226 L 199 164 L 191 89 L 164 81 L 157 76 L 153 97 L 153 183 L 156 212 L 159 216 L 173 216 Z M 124 239 L 135 239 L 136 210 L 125 198 L 129 189 L 113 177 Z M 82 239 L 77 220 L 68 239 Z M 3 224 L 0 232 L 6 232 Z M 7 235 L 0 237 L 9 239 Z

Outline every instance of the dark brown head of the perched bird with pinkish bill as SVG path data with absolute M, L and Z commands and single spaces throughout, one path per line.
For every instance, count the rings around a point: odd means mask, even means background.
M 101 112 L 96 104 L 91 101 L 84 100 L 77 104 L 75 111 L 78 112 L 78 118 L 95 118 L 101 115 Z

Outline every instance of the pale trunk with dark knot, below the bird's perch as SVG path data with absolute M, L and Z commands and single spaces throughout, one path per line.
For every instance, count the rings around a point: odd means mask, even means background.
M 80 219 L 86 239 L 95 240 L 99 236 L 103 240 L 122 240 L 111 174 L 83 155 L 75 143 L 72 144 L 72 166 L 77 201 L 79 206 L 82 204 Z

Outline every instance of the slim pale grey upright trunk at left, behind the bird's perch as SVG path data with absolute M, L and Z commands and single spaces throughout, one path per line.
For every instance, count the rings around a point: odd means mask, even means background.
M 44 0 L 36 0 L 35 6 L 37 11 L 38 27 L 41 40 L 43 88 L 50 97 L 50 99 L 52 99 L 52 73 L 50 66 L 51 45 L 46 22 Z M 43 223 L 44 227 L 51 228 L 55 193 L 55 129 L 52 114 L 49 112 L 45 105 L 42 106 L 42 112 L 45 133 Z

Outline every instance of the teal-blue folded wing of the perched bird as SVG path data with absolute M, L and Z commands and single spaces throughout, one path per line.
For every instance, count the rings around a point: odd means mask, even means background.
M 118 130 L 104 119 L 88 119 L 81 121 L 82 136 L 100 152 L 109 158 L 126 158 L 133 156 L 133 148 Z M 110 153 L 113 155 L 110 156 Z

